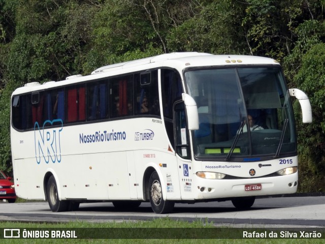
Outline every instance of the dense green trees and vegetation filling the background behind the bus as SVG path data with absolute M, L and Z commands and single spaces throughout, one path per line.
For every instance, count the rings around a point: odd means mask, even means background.
M 277 59 L 312 105 L 301 123 L 299 192 L 325 191 L 325 2 L 319 0 L 0 0 L 0 169 L 12 176 L 10 96 L 152 55 L 197 51 Z

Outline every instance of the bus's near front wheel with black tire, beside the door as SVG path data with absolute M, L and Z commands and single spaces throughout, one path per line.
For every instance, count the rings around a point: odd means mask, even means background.
M 165 201 L 158 173 L 154 171 L 149 179 L 149 198 L 152 210 L 156 214 L 169 214 L 173 211 L 175 202 Z

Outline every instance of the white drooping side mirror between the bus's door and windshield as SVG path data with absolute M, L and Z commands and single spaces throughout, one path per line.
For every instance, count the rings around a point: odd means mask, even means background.
M 197 103 L 188 94 L 182 93 L 182 99 L 185 104 L 188 130 L 199 130 L 199 113 Z

